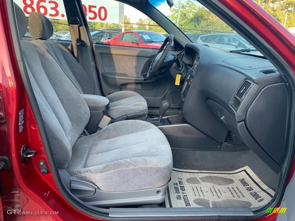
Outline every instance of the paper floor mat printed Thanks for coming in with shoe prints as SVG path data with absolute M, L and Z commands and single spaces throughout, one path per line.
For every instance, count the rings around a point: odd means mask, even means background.
M 173 168 L 166 207 L 260 207 L 274 191 L 248 167 L 235 171 Z

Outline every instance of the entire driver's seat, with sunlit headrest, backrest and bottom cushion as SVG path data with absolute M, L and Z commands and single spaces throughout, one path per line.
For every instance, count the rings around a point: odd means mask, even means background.
M 47 17 L 37 12 L 31 12 L 29 32 L 31 37 L 35 39 L 32 43 L 44 48 L 53 57 L 81 94 L 94 94 L 92 80 L 73 55 L 63 45 L 49 39 L 53 35 L 53 26 Z M 133 119 L 143 120 L 147 117 L 148 104 L 139 93 L 118 91 L 106 96 L 106 98 L 110 101 L 108 114 L 113 119 L 142 111 L 146 113 L 144 116 Z

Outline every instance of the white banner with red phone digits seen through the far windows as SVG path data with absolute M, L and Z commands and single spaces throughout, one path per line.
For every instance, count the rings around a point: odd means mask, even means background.
M 36 11 L 51 19 L 66 19 L 62 0 L 14 0 L 26 16 Z M 89 22 L 123 23 L 124 4 L 118 1 L 83 0 L 84 13 Z

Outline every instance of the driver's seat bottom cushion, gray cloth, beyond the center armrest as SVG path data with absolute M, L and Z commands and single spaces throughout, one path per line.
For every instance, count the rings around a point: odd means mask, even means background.
M 118 91 L 106 96 L 106 98 L 108 98 L 110 101 L 111 108 L 108 110 L 108 113 L 113 119 L 140 111 L 145 111 L 148 113 L 148 104 L 145 98 L 134 91 Z M 147 114 L 145 116 L 133 119 L 143 120 L 146 117 Z

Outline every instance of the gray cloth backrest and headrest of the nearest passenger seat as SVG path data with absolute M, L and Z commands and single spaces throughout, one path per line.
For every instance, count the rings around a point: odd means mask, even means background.
M 16 4 L 14 9 L 19 37 L 22 37 L 27 32 L 27 18 Z M 59 168 L 65 168 L 73 145 L 89 121 L 89 108 L 58 63 L 43 48 L 22 40 L 20 46 L 53 157 Z

